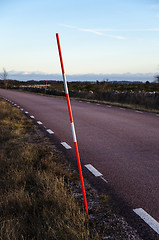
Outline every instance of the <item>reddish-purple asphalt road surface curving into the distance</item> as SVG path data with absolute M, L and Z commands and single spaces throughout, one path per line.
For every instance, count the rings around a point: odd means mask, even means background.
M 66 100 L 0 89 L 73 147 Z M 132 209 L 159 222 L 159 115 L 71 101 L 82 164 L 92 164 Z M 74 154 L 74 153 L 73 153 Z

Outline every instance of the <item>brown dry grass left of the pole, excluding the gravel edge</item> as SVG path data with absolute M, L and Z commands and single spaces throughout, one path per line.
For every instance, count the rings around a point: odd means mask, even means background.
M 30 140 L 30 120 L 4 100 L 0 129 L 0 239 L 99 239 L 69 191 L 74 172 L 56 148 Z

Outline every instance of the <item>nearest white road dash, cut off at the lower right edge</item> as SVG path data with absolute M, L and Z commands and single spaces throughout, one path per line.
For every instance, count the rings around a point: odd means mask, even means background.
M 159 223 L 142 208 L 133 209 L 155 232 L 159 234 Z

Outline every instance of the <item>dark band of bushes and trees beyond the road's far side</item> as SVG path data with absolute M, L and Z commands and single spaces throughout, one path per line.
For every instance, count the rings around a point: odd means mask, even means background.
M 20 82 L 8 80 L 5 71 L 3 80 L 0 81 L 0 87 L 45 93 L 45 80 Z M 156 81 L 150 83 L 120 83 L 108 81 L 96 82 L 69 82 L 69 92 L 71 97 L 92 99 L 108 102 L 117 102 L 122 104 L 132 104 L 142 106 L 147 109 L 159 109 L 159 75 Z M 7 84 L 6 84 L 7 81 Z M 62 81 L 47 81 L 48 95 L 65 96 Z M 42 85 L 42 87 L 35 87 Z M 23 87 L 22 87 L 23 86 Z

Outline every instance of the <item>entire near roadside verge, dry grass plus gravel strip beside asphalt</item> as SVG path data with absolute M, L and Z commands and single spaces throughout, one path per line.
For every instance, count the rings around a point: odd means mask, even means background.
M 0 240 L 139 240 L 111 197 L 85 182 L 17 108 L 0 99 Z

